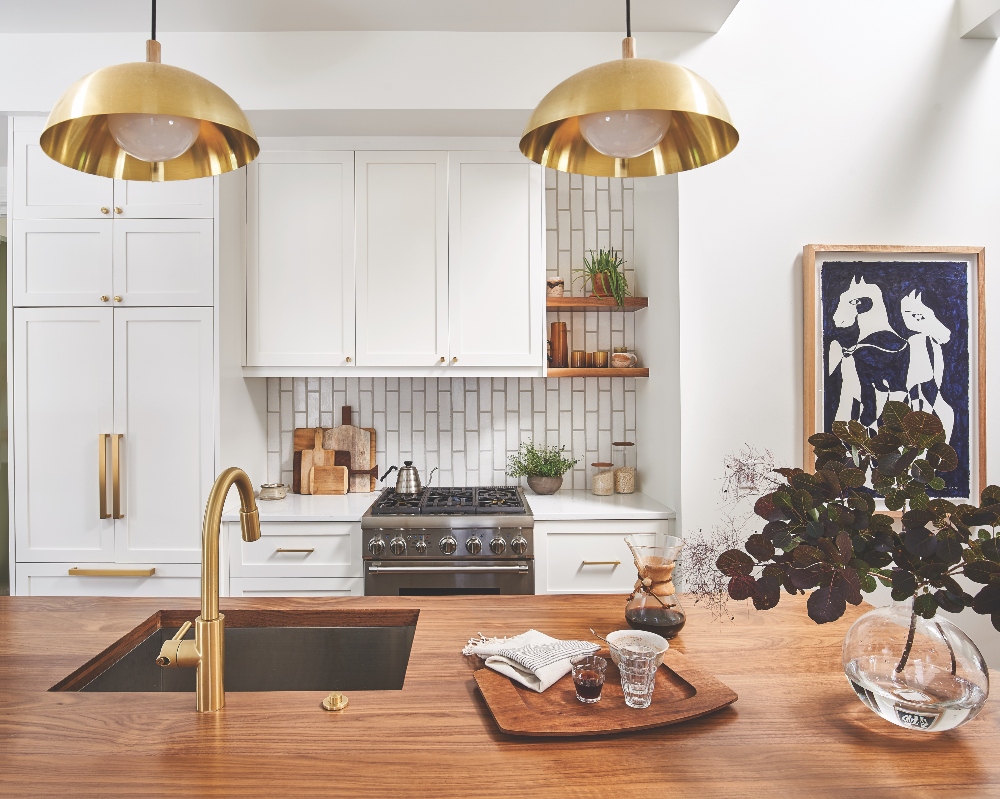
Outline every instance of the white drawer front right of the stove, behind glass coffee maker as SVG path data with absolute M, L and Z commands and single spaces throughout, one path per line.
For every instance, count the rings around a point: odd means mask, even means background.
M 621 533 L 547 536 L 549 593 L 622 594 L 635 585 L 635 563 Z

